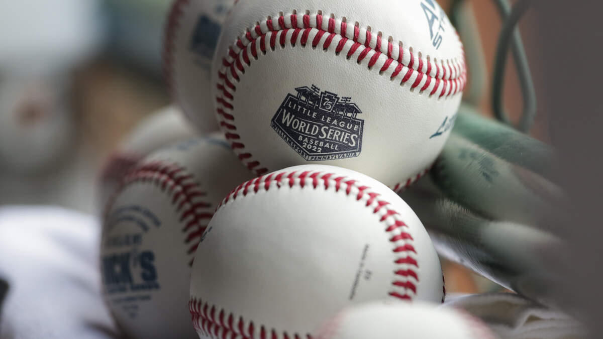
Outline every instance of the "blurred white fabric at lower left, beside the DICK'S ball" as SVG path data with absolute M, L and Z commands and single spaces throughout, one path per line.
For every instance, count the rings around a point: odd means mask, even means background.
M 51 207 L 0 208 L 0 338 L 118 337 L 100 294 L 98 221 Z

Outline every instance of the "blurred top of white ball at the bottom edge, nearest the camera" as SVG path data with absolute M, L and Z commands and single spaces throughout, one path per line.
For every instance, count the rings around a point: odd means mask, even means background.
M 330 318 L 317 339 L 494 339 L 487 325 L 461 309 L 428 303 L 371 302 Z

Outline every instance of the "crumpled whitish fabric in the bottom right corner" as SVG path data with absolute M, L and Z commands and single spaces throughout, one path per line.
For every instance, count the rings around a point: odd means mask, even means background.
M 512 293 L 447 297 L 442 308 L 462 308 L 481 318 L 503 339 L 560 339 L 586 337 L 569 315 Z

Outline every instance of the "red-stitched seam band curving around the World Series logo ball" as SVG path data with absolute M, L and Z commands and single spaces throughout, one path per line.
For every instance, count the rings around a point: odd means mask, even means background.
M 323 51 L 334 52 L 335 55 L 343 52 L 348 60 L 355 57 L 359 65 L 365 63 L 368 69 L 379 68 L 379 74 L 388 75 L 391 81 L 402 77 L 400 86 L 411 83 L 411 92 L 419 88 L 419 93 L 428 91 L 429 97 L 439 92 L 438 100 L 452 97 L 462 92 L 466 86 L 467 71 L 462 49 L 456 59 L 438 62 L 427 55 L 424 60 L 421 52 L 417 53 L 417 57 L 412 47 L 405 51 L 402 42 L 396 45 L 391 36 L 384 39 L 381 32 L 374 34 L 370 26 L 361 28 L 358 22 L 354 25 L 347 24 L 346 17 L 335 19 L 333 14 L 323 16 L 321 11 L 315 16 L 311 16 L 309 11 L 304 15 L 298 15 L 294 11 L 286 16 L 280 13 L 276 20 L 268 17 L 266 21 L 257 22 L 253 28 L 248 28 L 245 34 L 229 46 L 216 83 L 218 123 L 239 159 L 257 175 L 267 173 L 268 168 L 261 166 L 253 154 L 245 151 L 241 135 L 236 131 L 235 116 L 232 114 L 235 83 L 245 74 L 245 67 L 251 66 L 252 60 L 259 59 L 260 53 L 265 55 L 269 50 L 274 51 L 277 46 L 285 48 L 287 44 L 305 48 L 308 43 L 314 49 L 321 45 Z M 406 186 L 412 181 L 408 179 Z M 398 183 L 394 190 L 400 186 L 402 184 Z

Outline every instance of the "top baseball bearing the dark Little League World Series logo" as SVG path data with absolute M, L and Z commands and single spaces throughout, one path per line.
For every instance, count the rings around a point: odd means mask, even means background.
M 219 124 L 248 168 L 320 163 L 397 191 L 440 153 L 466 84 L 431 0 L 246 0 L 212 66 Z

